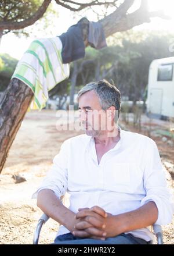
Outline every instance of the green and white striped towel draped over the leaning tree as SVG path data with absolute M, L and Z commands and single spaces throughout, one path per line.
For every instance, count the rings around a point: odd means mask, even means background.
M 12 78 L 31 88 L 34 93 L 31 109 L 44 108 L 48 91 L 70 75 L 70 65 L 62 63 L 61 48 L 59 37 L 34 40 L 17 63 Z

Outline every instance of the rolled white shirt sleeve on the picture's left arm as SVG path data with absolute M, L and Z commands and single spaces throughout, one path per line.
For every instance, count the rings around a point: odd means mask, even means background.
M 51 169 L 42 181 L 41 186 L 32 195 L 32 198 L 37 198 L 39 191 L 43 189 L 52 190 L 57 197 L 59 197 L 59 199 L 66 193 L 69 145 L 70 140 L 64 141 L 64 143 L 61 145 L 59 154 L 53 158 L 53 165 Z

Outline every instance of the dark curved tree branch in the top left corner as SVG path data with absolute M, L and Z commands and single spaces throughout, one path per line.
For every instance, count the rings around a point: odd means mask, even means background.
M 24 27 L 31 26 L 44 15 L 51 1 L 52 0 L 44 0 L 44 2 L 42 3 L 41 7 L 39 7 L 37 12 L 35 12 L 34 15 L 32 15 L 30 18 L 26 20 L 23 20 L 22 22 L 11 22 L 11 21 L 0 22 L 0 30 L 24 29 Z

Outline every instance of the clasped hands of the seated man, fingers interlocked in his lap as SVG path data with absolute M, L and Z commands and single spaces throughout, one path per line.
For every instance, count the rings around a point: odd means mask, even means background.
M 101 240 L 115 236 L 111 228 L 114 217 L 112 214 L 98 206 L 80 208 L 78 211 L 74 216 L 74 236 Z

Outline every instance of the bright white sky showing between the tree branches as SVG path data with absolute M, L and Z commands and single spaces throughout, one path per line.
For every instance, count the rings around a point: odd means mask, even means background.
M 133 12 L 135 9 L 137 9 L 140 5 L 140 0 L 135 0 L 134 5 L 129 10 L 129 12 Z M 168 16 L 171 16 L 171 20 L 164 20 L 160 18 L 153 18 L 151 19 L 151 23 L 144 23 L 140 26 L 137 26 L 134 28 L 134 30 L 160 30 L 160 31 L 169 31 L 174 34 L 174 1 L 173 0 L 148 0 L 149 9 L 151 11 L 153 10 L 164 10 L 165 14 Z M 43 37 L 55 37 L 56 35 L 60 35 L 61 33 L 67 31 L 68 27 L 70 27 L 72 24 L 77 23 L 79 20 L 79 17 L 74 17 L 73 12 L 71 12 L 68 9 L 62 8 L 61 6 L 54 5 L 54 8 L 56 9 L 56 12 L 59 13 L 59 17 L 55 17 L 52 22 L 50 23 L 50 26 L 48 29 L 42 31 L 38 30 L 37 37 L 43 38 Z M 93 13 L 89 10 L 88 12 L 85 12 L 86 17 L 88 17 L 89 20 L 97 21 L 96 17 L 93 18 Z M 38 22 L 39 23 L 39 22 Z M 57 26 L 56 26 L 57 24 Z M 34 25 L 31 26 L 31 29 L 34 28 Z M 27 50 L 32 40 L 34 40 L 35 37 L 29 37 L 29 38 L 18 38 L 12 33 L 9 33 L 7 35 L 3 35 L 0 45 L 0 54 L 2 53 L 8 53 L 10 56 L 16 59 L 20 59 L 23 53 Z M 174 42 L 174 38 L 171 38 Z

